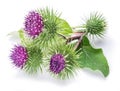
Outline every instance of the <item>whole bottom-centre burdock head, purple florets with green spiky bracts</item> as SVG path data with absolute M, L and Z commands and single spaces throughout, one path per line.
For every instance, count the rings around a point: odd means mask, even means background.
M 76 68 L 78 67 L 76 61 L 78 55 L 73 50 L 73 46 L 66 45 L 63 39 L 60 42 L 56 41 L 54 43 L 54 45 L 50 46 L 47 55 L 48 70 L 56 78 L 71 78 L 76 73 Z

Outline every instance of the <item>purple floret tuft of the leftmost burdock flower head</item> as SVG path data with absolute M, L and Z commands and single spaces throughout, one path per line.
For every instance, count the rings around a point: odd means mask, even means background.
M 28 59 L 26 48 L 23 46 L 15 46 L 15 48 L 12 50 L 10 58 L 12 59 L 15 66 L 23 68 Z

